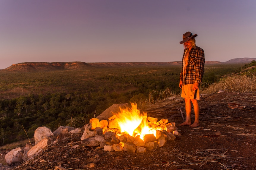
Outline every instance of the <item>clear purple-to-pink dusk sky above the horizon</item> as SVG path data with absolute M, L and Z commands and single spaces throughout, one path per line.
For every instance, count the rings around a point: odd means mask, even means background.
M 0 69 L 22 62 L 255 58 L 255 0 L 0 0 Z

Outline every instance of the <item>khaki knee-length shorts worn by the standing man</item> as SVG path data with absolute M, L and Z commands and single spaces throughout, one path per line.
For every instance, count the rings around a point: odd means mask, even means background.
M 181 97 L 200 100 L 199 89 L 192 90 L 192 88 L 193 84 L 183 85 L 181 90 Z

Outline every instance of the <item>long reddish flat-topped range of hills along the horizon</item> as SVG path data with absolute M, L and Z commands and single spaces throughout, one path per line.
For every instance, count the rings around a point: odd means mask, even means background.
M 250 63 L 256 58 L 237 58 L 226 62 L 205 61 L 205 64 L 232 64 L 232 63 Z M 162 67 L 162 66 L 181 66 L 181 61 L 172 62 L 107 62 L 107 63 L 86 63 L 86 62 L 26 62 L 12 64 L 6 69 L 0 71 L 58 71 L 58 70 L 75 70 L 75 69 L 92 69 L 92 68 L 111 68 L 111 67 Z

